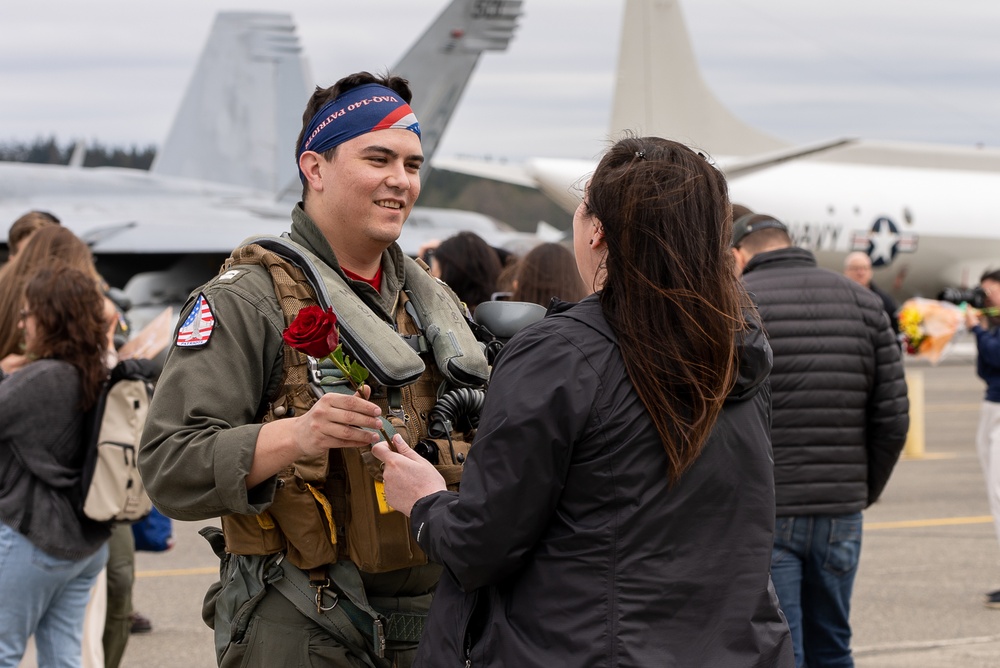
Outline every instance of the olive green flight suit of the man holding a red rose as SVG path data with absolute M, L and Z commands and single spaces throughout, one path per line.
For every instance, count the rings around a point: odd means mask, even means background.
M 301 204 L 292 212 L 291 239 L 340 272 L 329 244 Z M 390 323 L 404 283 L 402 259 L 396 244 L 383 252 L 381 294 L 345 277 L 366 304 Z M 182 319 L 199 292 L 211 308 L 213 330 L 203 346 L 172 346 L 146 421 L 140 470 L 156 506 L 175 519 L 259 514 L 274 499 L 276 479 L 247 490 L 245 478 L 260 420 L 282 379 L 284 317 L 270 275 L 261 266 L 234 267 L 209 281 L 192 293 Z M 427 360 L 428 367 L 433 364 Z M 294 568 L 287 561 L 283 567 Z M 413 613 L 426 613 L 439 575 L 436 564 L 361 573 L 373 604 L 378 601 L 383 607 Z M 210 595 L 217 589 L 214 585 Z M 410 665 L 415 644 L 390 643 L 384 660 L 372 656 L 369 645 L 369 656 L 359 658 L 356 647 L 344 647 L 271 585 L 262 596 L 249 623 L 244 620 L 236 633 L 235 642 L 220 646 L 220 630 L 216 629 L 220 666 L 381 667 L 390 661 L 394 666 Z M 206 622 L 215 628 L 231 611 L 218 612 L 213 603 L 205 613 Z M 228 629 L 222 635 L 228 637 Z

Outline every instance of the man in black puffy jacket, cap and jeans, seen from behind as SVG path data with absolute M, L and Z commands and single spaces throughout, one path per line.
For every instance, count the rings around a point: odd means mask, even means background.
M 774 218 L 741 217 L 733 255 L 774 351 L 771 577 L 796 665 L 853 666 L 861 511 L 885 488 L 909 428 L 899 346 L 878 297 L 817 267 Z

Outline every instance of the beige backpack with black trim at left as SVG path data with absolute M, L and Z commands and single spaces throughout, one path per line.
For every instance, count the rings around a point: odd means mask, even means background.
M 80 511 L 96 522 L 134 522 L 153 507 L 137 467 L 156 365 L 119 362 L 84 420 Z

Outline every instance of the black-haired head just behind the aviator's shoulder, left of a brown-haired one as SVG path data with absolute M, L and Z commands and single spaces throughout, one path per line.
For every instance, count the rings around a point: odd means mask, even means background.
M 490 301 L 501 269 L 496 249 L 474 232 L 445 239 L 431 258 L 431 273 L 447 283 L 470 312 Z

